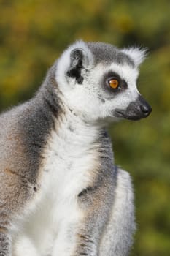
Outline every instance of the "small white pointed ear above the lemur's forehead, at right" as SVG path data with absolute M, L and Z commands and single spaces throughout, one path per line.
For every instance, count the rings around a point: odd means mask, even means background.
M 130 56 L 136 67 L 138 67 L 147 56 L 147 48 L 125 48 L 123 53 Z

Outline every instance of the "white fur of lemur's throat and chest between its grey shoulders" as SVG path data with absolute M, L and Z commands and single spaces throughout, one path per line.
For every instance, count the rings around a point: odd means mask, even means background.
M 72 254 L 74 233 L 83 218 L 77 195 L 93 181 L 90 170 L 98 165 L 91 149 L 97 133 L 98 129 L 82 125 L 73 113 L 58 133 L 52 132 L 44 152 L 41 186 L 31 212 L 27 212 L 27 222 L 15 237 L 14 254 Z

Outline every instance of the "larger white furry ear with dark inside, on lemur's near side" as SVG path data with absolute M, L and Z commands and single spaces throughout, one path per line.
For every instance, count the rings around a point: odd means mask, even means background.
M 90 69 L 93 66 L 93 54 L 88 45 L 83 41 L 77 41 L 69 46 L 61 58 L 58 59 L 55 78 L 59 84 L 66 86 L 73 85 L 76 80 L 77 83 L 82 84 L 83 69 Z M 68 78 L 73 78 L 72 81 Z

